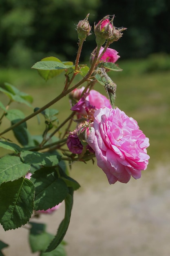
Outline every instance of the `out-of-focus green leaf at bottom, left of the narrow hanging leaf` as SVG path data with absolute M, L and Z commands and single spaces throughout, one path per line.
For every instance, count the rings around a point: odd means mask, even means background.
M 29 222 L 29 225 L 31 225 L 29 234 L 31 251 L 33 253 L 45 251 L 54 235 L 46 232 L 46 225 L 43 223 Z

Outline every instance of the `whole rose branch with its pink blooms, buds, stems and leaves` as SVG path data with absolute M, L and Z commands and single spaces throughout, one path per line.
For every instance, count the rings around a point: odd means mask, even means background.
M 68 164 L 74 168 L 74 162 L 94 163 L 96 159 L 109 184 L 127 183 L 131 176 L 139 179 L 148 165 L 149 139 L 135 119 L 115 106 L 117 85 L 108 75 L 110 71 L 121 71 L 116 63 L 120 56 L 109 46 L 121 38 L 125 28 L 113 25 L 114 16 L 107 15 L 100 20 L 94 25 L 97 45 L 91 54 L 91 65 L 79 65 L 84 40 L 91 34 L 88 17 L 89 14 L 77 24 L 79 41 L 74 65 L 56 57 L 43 58 L 33 65 L 45 80 L 64 73 L 62 92 L 55 99 L 42 108 L 35 108 L 27 117 L 21 110 L 9 110 L 0 103 L 4 110 L 2 117 L 11 121 L 11 126 L 0 135 L 13 130 L 18 141 L 16 144 L 2 136 L 0 139 L 0 147 L 12 151 L 0 158 L 0 223 L 4 230 L 9 230 L 29 222 L 30 246 L 33 253 L 40 252 L 40 255 L 43 252 L 47 256 L 59 252 L 60 256 L 66 255 L 62 240 L 71 218 L 73 192 L 80 187 L 70 177 Z M 73 84 L 78 74 L 82 78 Z M 107 97 L 94 90 L 95 83 L 104 86 Z M 5 89 L 0 90 L 11 101 L 32 108 L 32 97 L 13 85 L 6 83 Z M 60 123 L 58 110 L 50 107 L 66 95 L 69 95 L 71 114 Z M 42 134 L 32 136 L 26 121 L 39 113 L 45 118 L 45 129 Z M 62 202 L 64 219 L 56 227 L 55 236 L 46 231 L 44 224 L 29 221 L 33 214 L 53 213 Z

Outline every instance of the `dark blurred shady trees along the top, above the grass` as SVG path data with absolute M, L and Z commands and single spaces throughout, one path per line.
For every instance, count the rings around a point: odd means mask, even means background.
M 30 67 L 46 56 L 74 61 L 75 27 L 87 13 L 92 26 L 105 15 L 115 14 L 114 25 L 128 28 L 111 45 L 121 59 L 170 53 L 169 0 L 1 0 L 0 66 Z M 85 42 L 82 61 L 95 46 L 92 33 Z

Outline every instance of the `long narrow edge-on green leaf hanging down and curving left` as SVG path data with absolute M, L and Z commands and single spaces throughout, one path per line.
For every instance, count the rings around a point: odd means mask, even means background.
M 69 189 L 69 193 L 67 194 L 65 198 L 65 216 L 64 220 L 60 223 L 60 226 L 57 230 L 57 234 L 49 247 L 47 248 L 46 252 L 51 252 L 53 251 L 63 240 L 66 231 L 68 229 L 68 225 L 70 223 L 70 218 L 71 218 L 71 210 L 73 207 L 73 189 Z

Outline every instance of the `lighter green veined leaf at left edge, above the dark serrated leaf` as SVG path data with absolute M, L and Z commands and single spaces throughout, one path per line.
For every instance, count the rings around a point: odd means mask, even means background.
M 26 175 L 29 169 L 30 164 L 21 162 L 20 157 L 4 156 L 0 158 L 0 184 L 19 179 Z

